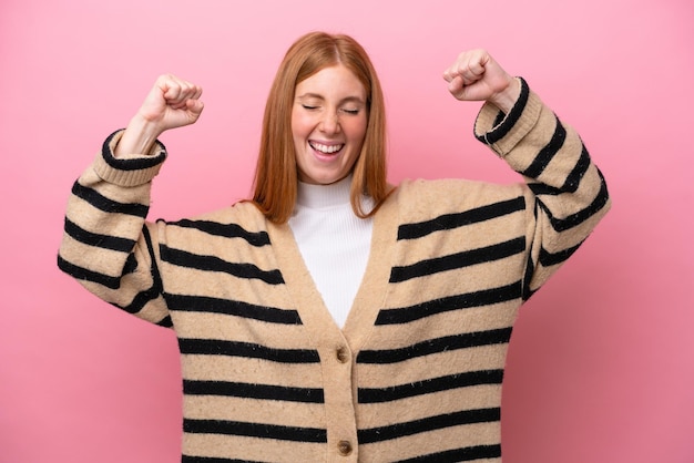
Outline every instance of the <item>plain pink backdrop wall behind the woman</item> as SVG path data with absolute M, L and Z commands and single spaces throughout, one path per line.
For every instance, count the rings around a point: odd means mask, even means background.
M 508 463 L 694 462 L 691 0 L 3 0 L 0 462 L 175 462 L 174 336 L 96 300 L 55 253 L 73 179 L 163 72 L 200 83 L 165 134 L 151 217 L 246 197 L 289 43 L 347 32 L 389 109 L 390 178 L 516 181 L 440 76 L 483 47 L 579 128 L 614 207 L 521 311 L 503 398 Z

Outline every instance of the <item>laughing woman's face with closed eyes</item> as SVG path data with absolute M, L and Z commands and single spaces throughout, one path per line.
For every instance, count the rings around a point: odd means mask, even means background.
M 364 85 L 343 64 L 299 82 L 292 106 L 299 181 L 328 185 L 349 175 L 361 152 L 367 120 Z

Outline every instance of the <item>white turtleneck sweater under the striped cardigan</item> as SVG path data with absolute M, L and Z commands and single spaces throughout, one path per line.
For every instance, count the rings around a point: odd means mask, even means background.
M 299 182 L 289 227 L 304 263 L 340 328 L 366 269 L 372 218 L 357 217 L 349 202 L 351 176 L 333 185 Z M 365 209 L 372 203 L 364 198 Z

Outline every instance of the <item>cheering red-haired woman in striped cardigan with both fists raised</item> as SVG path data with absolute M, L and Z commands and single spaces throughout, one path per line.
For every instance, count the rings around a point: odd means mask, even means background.
M 579 135 L 487 52 L 443 78 L 525 183 L 389 185 L 371 62 L 309 33 L 272 86 L 253 199 L 145 220 L 156 138 L 203 110 L 173 75 L 74 184 L 59 266 L 175 331 L 183 462 L 501 461 L 519 307 L 610 202 Z

